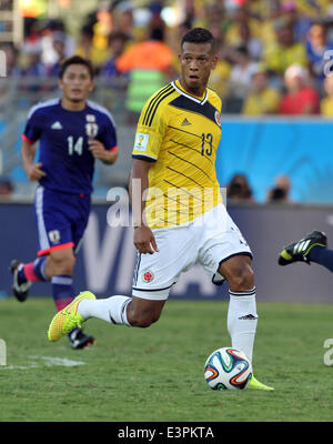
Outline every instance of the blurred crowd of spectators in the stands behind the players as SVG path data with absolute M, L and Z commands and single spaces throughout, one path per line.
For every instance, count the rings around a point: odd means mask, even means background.
M 164 3 L 148 2 L 142 27 L 135 2 L 100 2 L 78 39 L 61 20 L 26 19 L 22 46 L 0 48 L 8 75 L 32 79 L 29 88 L 38 92 L 51 88 L 40 80 L 57 78 L 63 58 L 85 56 L 99 79 L 125 89 L 127 110 L 135 115 L 153 91 L 178 77 L 183 33 L 206 27 L 220 57 L 210 87 L 222 97 L 224 113 L 333 117 L 332 1 L 184 0 L 176 26 L 165 22 Z

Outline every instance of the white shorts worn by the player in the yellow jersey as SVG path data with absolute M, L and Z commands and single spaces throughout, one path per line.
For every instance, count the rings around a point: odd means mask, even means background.
M 167 300 L 181 273 L 195 263 L 212 282 L 221 285 L 220 263 L 252 252 L 223 204 L 214 206 L 188 224 L 153 229 L 159 252 L 137 254 L 132 295 L 147 300 Z

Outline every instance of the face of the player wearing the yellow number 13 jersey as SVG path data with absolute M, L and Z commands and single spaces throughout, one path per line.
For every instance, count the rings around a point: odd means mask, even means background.
M 211 70 L 216 67 L 218 57 L 210 43 L 184 42 L 179 54 L 182 85 L 194 94 L 203 94 Z

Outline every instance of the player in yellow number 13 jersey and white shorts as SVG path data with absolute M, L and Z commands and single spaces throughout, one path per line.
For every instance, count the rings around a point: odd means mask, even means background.
M 250 361 L 256 331 L 252 253 L 222 202 L 215 174 L 221 139 L 221 100 L 206 88 L 216 65 L 209 30 L 182 39 L 181 77 L 143 107 L 130 178 L 138 260 L 132 296 L 95 300 L 82 292 L 58 313 L 49 340 L 58 341 L 89 317 L 148 327 L 157 322 L 182 272 L 200 263 L 212 281 L 228 281 L 228 330 L 232 346 Z M 250 389 L 272 390 L 252 376 Z

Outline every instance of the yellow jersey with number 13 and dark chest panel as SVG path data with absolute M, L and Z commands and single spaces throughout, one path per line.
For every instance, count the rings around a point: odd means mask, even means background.
M 188 223 L 222 202 L 215 172 L 221 109 L 215 92 L 198 98 L 179 80 L 143 107 L 132 157 L 153 162 L 145 199 L 151 228 Z

